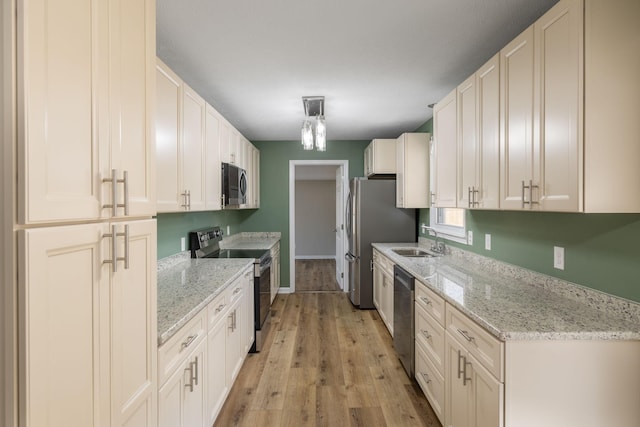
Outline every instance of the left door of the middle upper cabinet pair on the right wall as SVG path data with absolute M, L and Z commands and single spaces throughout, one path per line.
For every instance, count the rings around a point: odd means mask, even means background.
M 475 208 L 475 190 L 479 191 L 478 97 L 476 74 L 457 89 L 458 109 L 458 207 Z M 437 144 L 437 140 L 436 140 Z M 437 145 L 436 145 L 437 147 Z

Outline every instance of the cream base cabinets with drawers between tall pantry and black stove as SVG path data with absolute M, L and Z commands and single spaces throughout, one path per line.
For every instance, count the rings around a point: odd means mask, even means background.
M 160 427 L 214 424 L 253 343 L 249 281 L 253 266 L 158 349 Z

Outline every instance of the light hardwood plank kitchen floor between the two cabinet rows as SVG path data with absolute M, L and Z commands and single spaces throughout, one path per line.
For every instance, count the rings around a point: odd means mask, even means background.
M 215 426 L 433 426 L 375 310 L 342 292 L 279 295 Z

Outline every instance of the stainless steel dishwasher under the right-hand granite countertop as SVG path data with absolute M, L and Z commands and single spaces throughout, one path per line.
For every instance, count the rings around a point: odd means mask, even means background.
M 393 267 L 393 347 L 409 378 L 415 372 L 413 304 L 415 279 L 398 265 Z

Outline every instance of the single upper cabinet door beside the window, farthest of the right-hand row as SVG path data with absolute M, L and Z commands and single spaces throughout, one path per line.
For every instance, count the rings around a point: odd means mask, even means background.
M 457 164 L 457 102 L 454 90 L 433 108 L 434 206 L 455 208 Z

